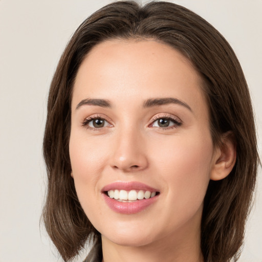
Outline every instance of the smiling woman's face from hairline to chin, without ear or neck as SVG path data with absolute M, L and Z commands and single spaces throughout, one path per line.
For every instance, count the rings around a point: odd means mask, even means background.
M 72 96 L 72 177 L 104 239 L 143 246 L 197 235 L 214 151 L 201 78 L 178 51 L 110 40 L 83 60 Z

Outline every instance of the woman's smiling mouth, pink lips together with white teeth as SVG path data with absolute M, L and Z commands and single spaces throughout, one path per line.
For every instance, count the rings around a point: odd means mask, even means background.
M 140 182 L 116 182 L 102 189 L 105 203 L 113 211 L 135 214 L 154 204 L 160 191 Z

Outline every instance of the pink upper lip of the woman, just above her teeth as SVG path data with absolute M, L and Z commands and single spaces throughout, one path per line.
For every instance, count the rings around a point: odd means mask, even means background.
M 132 182 L 114 182 L 111 184 L 108 184 L 102 188 L 102 191 L 109 191 L 109 190 L 145 190 L 145 191 L 150 191 L 150 192 L 159 192 L 156 188 L 152 188 L 144 183 L 137 182 L 137 181 L 132 181 Z

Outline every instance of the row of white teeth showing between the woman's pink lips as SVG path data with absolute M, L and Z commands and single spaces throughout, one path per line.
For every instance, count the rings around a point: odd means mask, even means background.
M 144 190 L 109 190 L 107 192 L 108 197 L 111 199 L 116 199 L 120 202 L 124 201 L 136 201 L 136 200 L 142 200 L 142 199 L 149 199 L 154 198 L 156 195 L 156 192 L 150 192 L 150 191 L 144 191 Z

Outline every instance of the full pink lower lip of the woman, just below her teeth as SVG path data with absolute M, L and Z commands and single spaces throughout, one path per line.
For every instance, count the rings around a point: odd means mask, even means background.
M 121 214 L 136 214 L 141 212 L 150 205 L 154 204 L 158 199 L 158 195 L 156 195 L 150 199 L 143 199 L 134 202 L 119 202 L 115 199 L 107 197 L 107 195 L 104 193 L 102 195 L 108 207 L 110 207 L 113 211 Z

